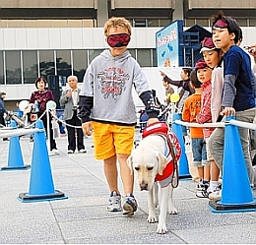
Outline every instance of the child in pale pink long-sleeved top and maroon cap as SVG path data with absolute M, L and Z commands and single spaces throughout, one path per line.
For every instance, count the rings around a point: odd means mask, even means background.
M 222 49 L 217 48 L 214 44 L 212 37 L 205 37 L 201 42 L 200 53 L 203 54 L 206 64 L 211 67 L 212 78 L 212 94 L 211 94 L 211 113 L 212 113 L 212 122 L 219 121 L 221 109 L 222 109 L 222 94 L 224 88 L 224 76 L 223 76 L 223 52 Z M 219 183 L 220 177 L 220 168 L 217 165 L 214 158 L 211 156 L 209 151 L 209 160 L 211 164 L 211 178 L 209 188 L 203 189 L 204 194 L 202 196 L 208 197 L 211 200 L 220 200 L 221 199 L 221 185 Z

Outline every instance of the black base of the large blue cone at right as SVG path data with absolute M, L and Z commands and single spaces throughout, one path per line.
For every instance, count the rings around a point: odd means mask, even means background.
M 213 213 L 256 212 L 256 202 L 241 205 L 224 205 L 220 201 L 210 201 L 209 208 Z

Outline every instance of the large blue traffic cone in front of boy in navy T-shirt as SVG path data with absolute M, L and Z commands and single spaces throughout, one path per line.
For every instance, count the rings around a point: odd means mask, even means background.
M 226 121 L 235 119 L 234 116 Z M 221 201 L 210 201 L 212 212 L 256 211 L 248 171 L 242 152 L 238 128 L 227 124 L 224 128 L 224 166 Z

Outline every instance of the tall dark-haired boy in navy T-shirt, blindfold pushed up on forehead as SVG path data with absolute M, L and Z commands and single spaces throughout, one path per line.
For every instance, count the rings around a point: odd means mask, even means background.
M 224 52 L 224 92 L 222 114 L 235 115 L 236 120 L 252 123 L 255 117 L 255 94 L 249 54 L 236 43 L 239 26 L 236 21 L 219 12 L 213 22 L 213 40 Z M 253 168 L 249 150 L 249 130 L 238 127 L 242 151 L 250 183 L 253 183 Z M 209 139 L 209 148 L 220 169 L 224 160 L 224 128 L 217 128 Z

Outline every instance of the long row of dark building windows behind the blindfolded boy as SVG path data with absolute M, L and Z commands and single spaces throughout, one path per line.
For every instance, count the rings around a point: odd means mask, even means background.
M 141 67 L 157 67 L 155 48 L 128 50 Z M 0 85 L 33 84 L 37 77 L 47 79 L 49 75 L 75 75 L 83 82 L 88 65 L 101 52 L 102 49 L 0 51 Z

